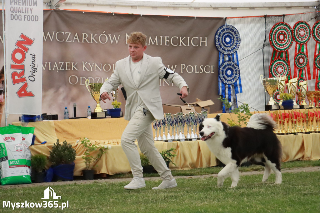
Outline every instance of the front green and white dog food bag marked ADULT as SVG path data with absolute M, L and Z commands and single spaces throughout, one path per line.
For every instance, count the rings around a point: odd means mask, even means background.
M 26 148 L 18 126 L 0 128 L 0 169 L 2 185 L 31 183 Z

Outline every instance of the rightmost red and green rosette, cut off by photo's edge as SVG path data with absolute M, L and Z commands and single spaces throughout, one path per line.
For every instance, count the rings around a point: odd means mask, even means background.
M 316 79 L 315 90 L 320 90 L 319 82 L 320 82 L 320 67 L 319 65 L 319 54 L 320 54 L 320 21 L 316 21 L 316 23 L 312 27 L 312 37 L 316 41 L 315 47 L 315 55 L 314 55 L 314 64 L 313 64 L 313 79 Z

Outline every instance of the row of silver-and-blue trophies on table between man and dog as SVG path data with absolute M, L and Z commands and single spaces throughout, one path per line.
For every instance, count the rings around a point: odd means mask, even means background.
M 197 134 L 198 124 L 200 124 L 206 117 L 208 117 L 208 112 L 201 112 L 201 114 L 195 112 L 189 112 L 187 114 L 165 113 L 164 119 L 154 120 L 152 123 L 156 136 L 154 140 L 162 140 L 166 142 L 172 142 L 173 140 L 197 140 L 201 138 Z M 184 132 L 185 126 L 187 126 L 187 135 L 185 135 Z M 172 130 L 171 132 L 170 129 Z

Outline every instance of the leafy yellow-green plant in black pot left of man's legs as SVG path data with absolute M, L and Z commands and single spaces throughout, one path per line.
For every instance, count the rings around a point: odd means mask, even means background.
M 107 149 L 111 149 L 111 146 L 98 146 L 92 144 L 88 138 L 80 138 L 79 140 L 77 140 L 77 143 L 79 142 L 81 142 L 81 145 L 84 147 L 84 156 L 82 156 L 85 162 L 85 170 L 82 170 L 84 180 L 93 180 L 93 164 L 101 158 L 101 156 L 107 151 Z M 91 153 L 97 150 L 99 150 L 97 156 L 93 157 Z

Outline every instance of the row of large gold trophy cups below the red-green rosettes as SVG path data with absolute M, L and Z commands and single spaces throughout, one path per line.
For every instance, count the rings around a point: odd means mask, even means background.
M 292 94 L 293 97 L 298 96 L 298 104 L 293 100 L 293 109 L 308 109 L 319 107 L 320 100 L 320 91 L 308 91 L 308 81 L 299 82 L 298 87 L 298 78 L 292 78 L 286 83 L 287 76 L 278 76 L 277 78 L 263 78 L 263 75 L 260 75 L 260 81 L 264 86 L 265 90 L 270 95 L 270 100 L 266 105 L 266 111 L 268 110 L 278 110 L 283 109 L 282 102 L 280 100 L 279 105 L 276 105 L 273 96 L 276 93 L 276 90 L 279 90 L 279 94 L 284 93 L 285 86 L 289 94 Z M 309 105 L 305 101 L 305 97 L 309 101 Z M 313 104 L 315 101 L 315 105 Z

